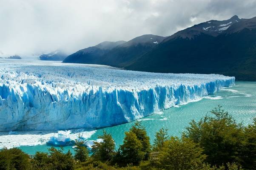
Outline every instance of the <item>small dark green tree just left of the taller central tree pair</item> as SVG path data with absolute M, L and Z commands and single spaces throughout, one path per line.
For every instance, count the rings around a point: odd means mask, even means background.
M 100 161 L 111 161 L 115 154 L 115 142 L 110 133 L 103 130 L 102 136 L 98 136 L 102 142 L 94 142 L 92 146 L 93 157 Z

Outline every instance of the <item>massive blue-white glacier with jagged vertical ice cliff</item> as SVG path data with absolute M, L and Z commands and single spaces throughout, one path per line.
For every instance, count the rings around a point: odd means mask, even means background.
M 107 66 L 0 62 L 0 130 L 119 125 L 232 86 L 218 74 L 162 74 Z

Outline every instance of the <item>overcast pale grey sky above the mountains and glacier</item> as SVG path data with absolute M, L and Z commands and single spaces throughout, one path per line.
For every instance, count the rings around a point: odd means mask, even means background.
M 235 14 L 255 17 L 256 0 L 0 0 L 0 55 L 73 53 Z

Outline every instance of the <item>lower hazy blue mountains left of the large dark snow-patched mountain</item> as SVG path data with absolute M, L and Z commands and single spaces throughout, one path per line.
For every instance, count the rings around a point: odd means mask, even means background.
M 102 42 L 94 47 L 85 48 L 71 54 L 63 62 L 123 67 L 150 51 L 164 39 L 165 37 L 147 34 L 136 37 L 128 42 Z

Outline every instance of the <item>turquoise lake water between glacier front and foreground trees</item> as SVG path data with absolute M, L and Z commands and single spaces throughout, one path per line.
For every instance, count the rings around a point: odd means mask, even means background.
M 228 111 L 237 122 L 243 122 L 244 125 L 252 123 L 253 118 L 256 117 L 256 82 L 236 82 L 235 86 L 224 88 L 213 96 L 206 96 L 201 100 L 190 102 L 186 105 L 172 107 L 139 121 L 146 127 L 148 136 L 153 142 L 154 134 L 160 128 L 167 128 L 170 135 L 180 136 L 192 119 L 196 121 L 201 119 L 206 114 L 210 114 L 209 111 L 218 105 Z M 128 131 L 133 124 L 134 122 L 129 122 L 114 127 L 97 129 L 88 140 L 96 140 L 104 129 L 112 134 L 118 147 L 122 144 L 125 131 Z M 49 147 L 51 146 L 44 144 L 20 146 L 20 149 L 28 154 L 34 154 L 36 151 L 47 152 Z M 64 149 L 65 151 L 70 149 L 73 152 L 72 146 L 65 146 Z

